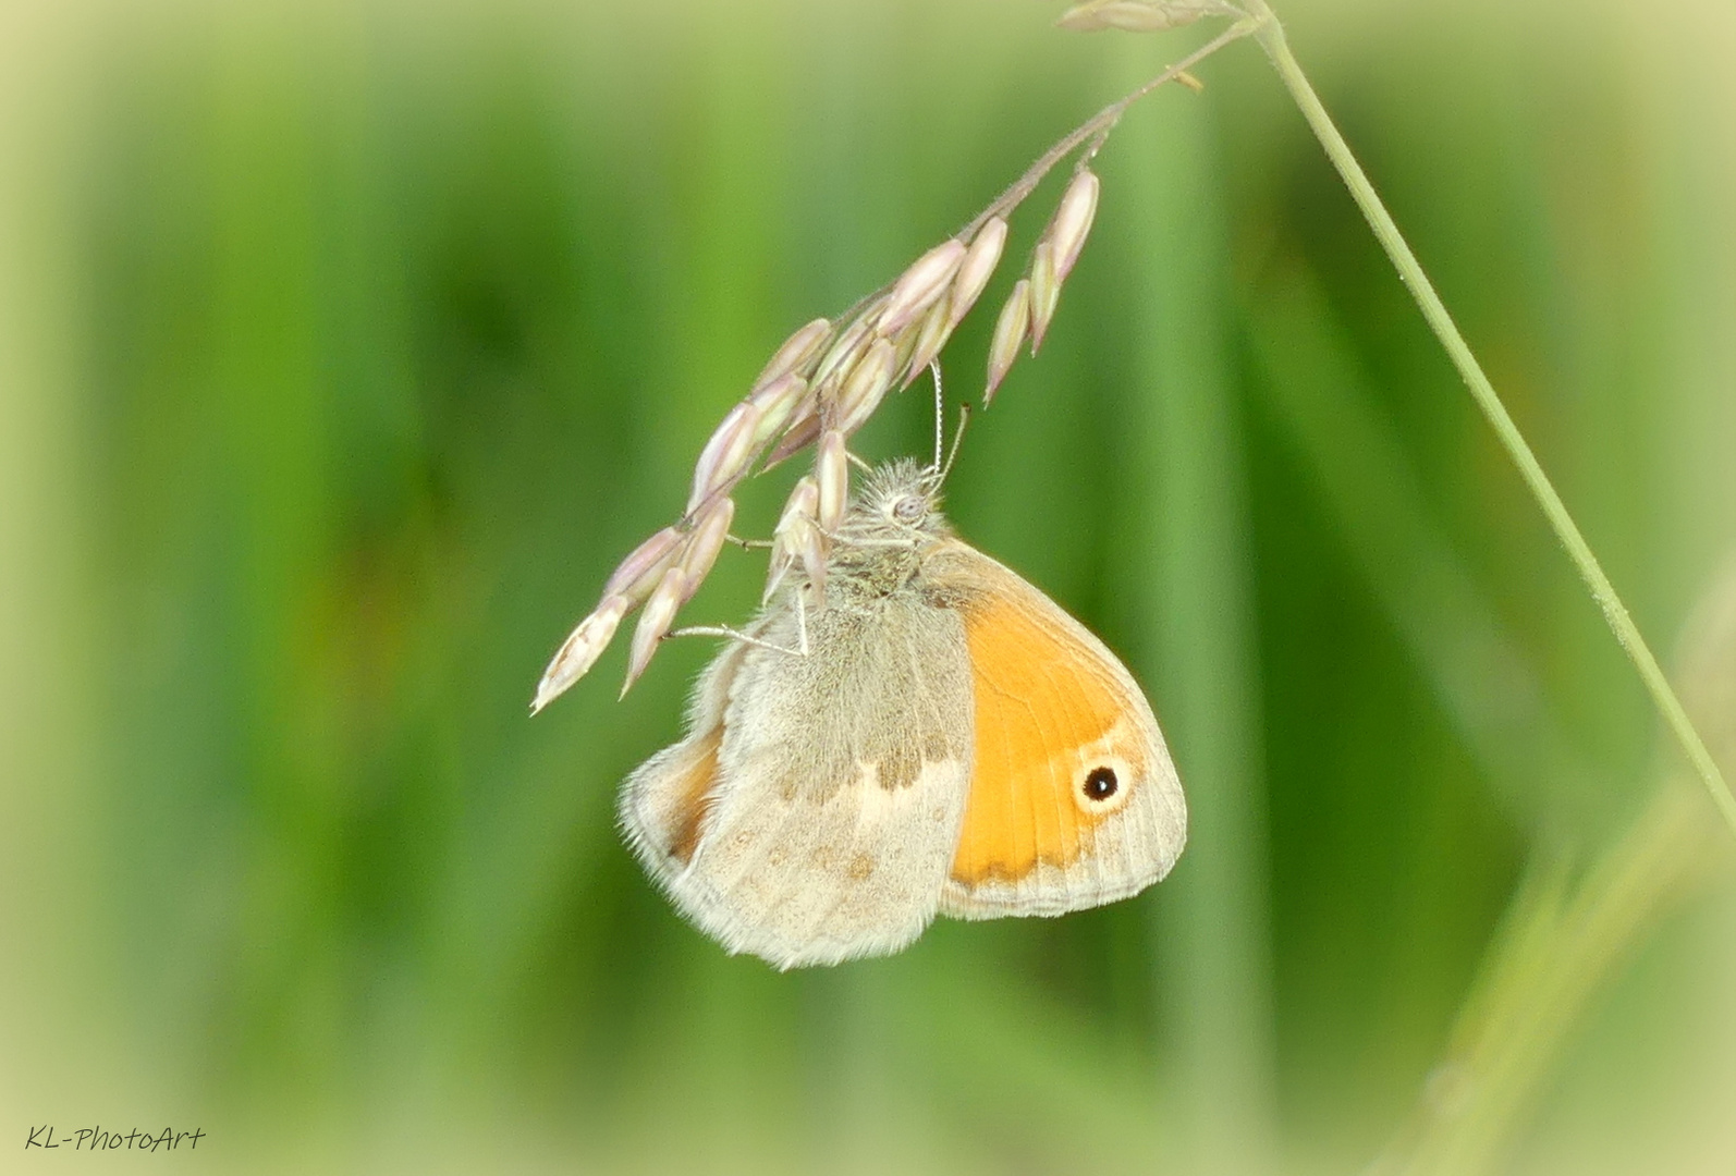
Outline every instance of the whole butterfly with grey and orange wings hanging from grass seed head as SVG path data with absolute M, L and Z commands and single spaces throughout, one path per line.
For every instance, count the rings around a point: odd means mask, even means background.
M 957 538 L 911 460 L 849 501 L 823 591 L 793 576 L 733 635 L 620 820 L 687 919 L 779 970 L 1127 898 L 1187 838 L 1132 675 Z

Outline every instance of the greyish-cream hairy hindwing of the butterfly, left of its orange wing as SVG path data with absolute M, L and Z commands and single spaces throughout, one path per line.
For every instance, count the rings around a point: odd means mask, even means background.
M 936 914 L 970 772 L 957 612 L 915 593 L 809 617 L 811 656 L 726 650 L 689 735 L 628 781 L 621 820 L 677 907 L 731 952 L 828 964 Z M 793 617 L 757 635 L 795 645 Z

